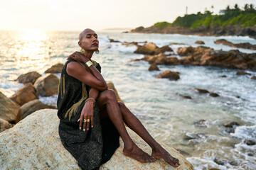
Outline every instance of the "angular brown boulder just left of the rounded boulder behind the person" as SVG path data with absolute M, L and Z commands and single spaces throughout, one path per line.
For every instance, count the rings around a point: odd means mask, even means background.
M 33 84 L 28 83 L 21 87 L 21 89 L 18 89 L 18 91 L 16 91 L 16 93 L 10 98 L 12 101 L 22 106 L 24 103 L 27 103 L 28 101 L 33 101 L 34 99 L 38 98 L 38 96 L 36 94 L 36 89 L 34 88 Z

